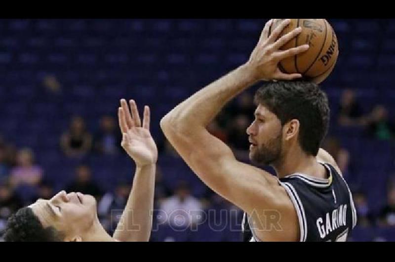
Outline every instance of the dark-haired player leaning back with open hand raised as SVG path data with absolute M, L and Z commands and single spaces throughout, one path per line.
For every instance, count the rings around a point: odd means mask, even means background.
M 39 199 L 12 215 L 5 241 L 148 241 L 152 228 L 154 183 L 158 150 L 150 134 L 150 109 L 143 124 L 136 104 L 131 114 L 124 99 L 118 108 L 121 145 L 136 163 L 133 188 L 113 236 L 100 224 L 93 196 L 61 191 L 49 200 Z

